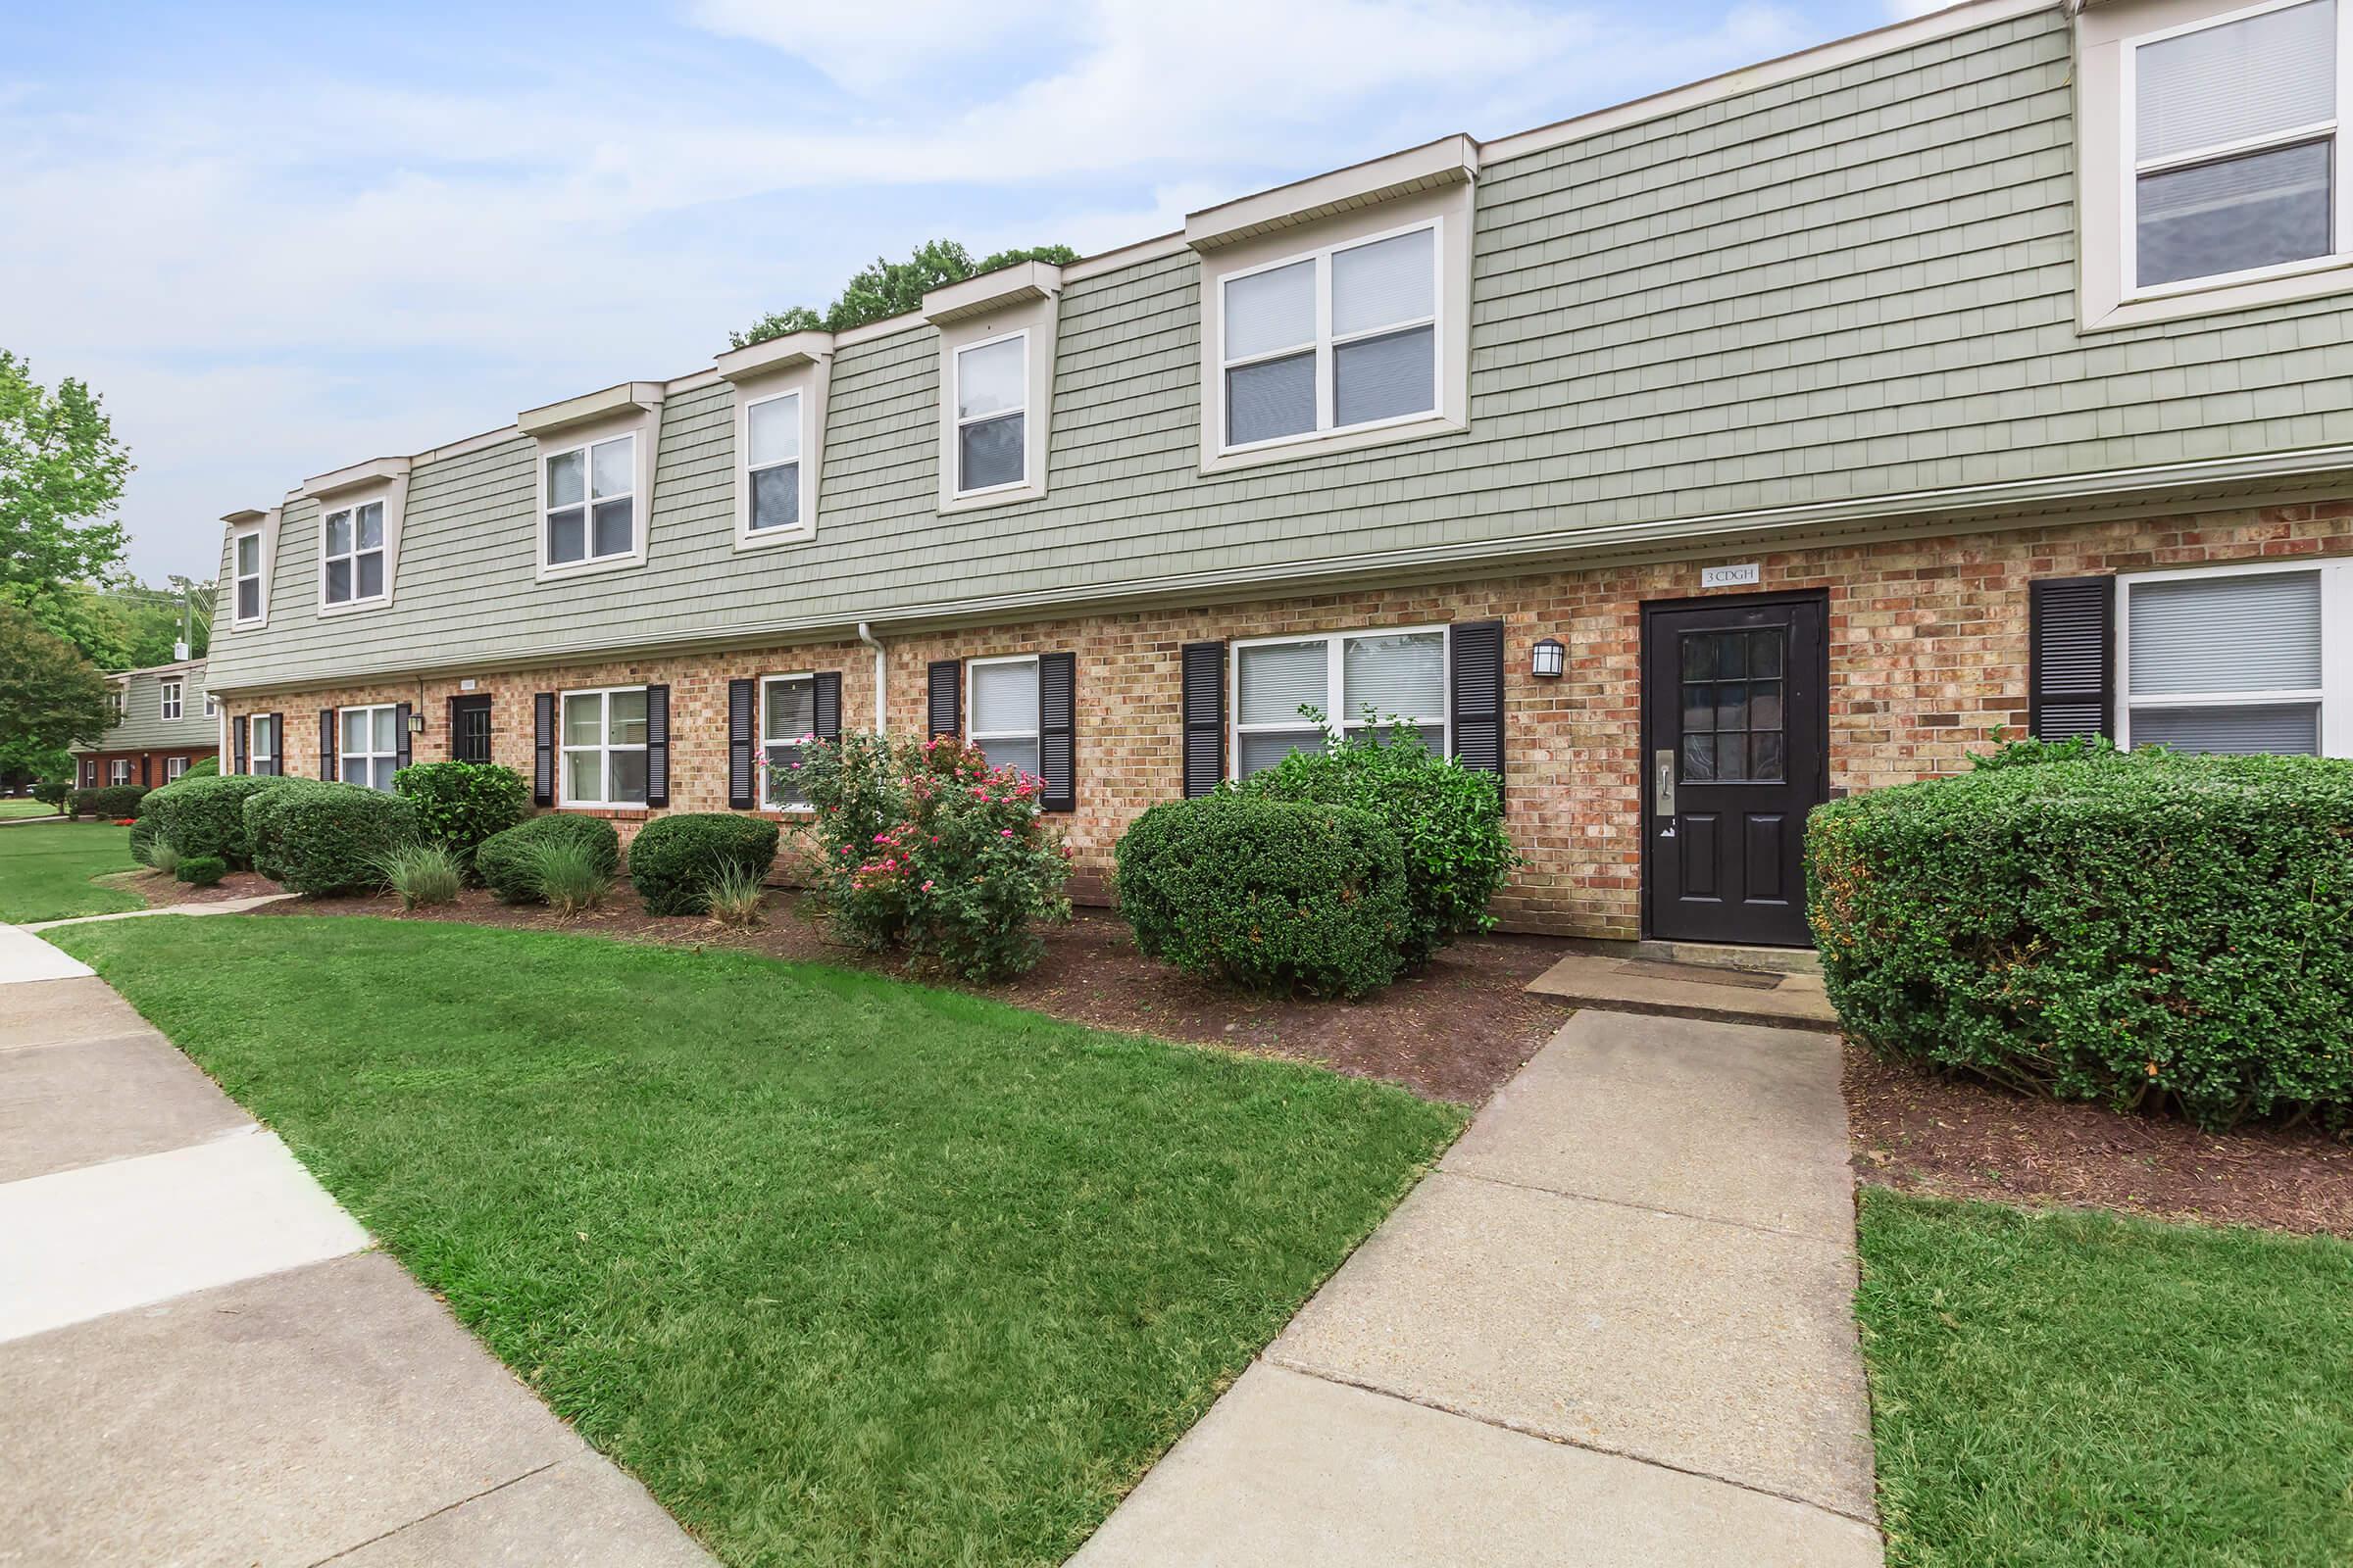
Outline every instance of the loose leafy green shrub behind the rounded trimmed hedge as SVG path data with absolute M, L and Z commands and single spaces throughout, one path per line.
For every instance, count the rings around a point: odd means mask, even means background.
M 1369 811 L 1405 849 L 1405 969 L 1457 936 L 1494 929 L 1487 900 L 1515 863 L 1494 773 L 1433 752 L 1417 731 L 1348 731 L 1322 752 L 1292 752 L 1242 795 Z

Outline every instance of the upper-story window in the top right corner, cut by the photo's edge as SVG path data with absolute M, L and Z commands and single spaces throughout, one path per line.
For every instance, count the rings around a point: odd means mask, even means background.
M 2337 5 L 2297 0 L 2132 45 L 2132 282 L 2325 259 L 2339 242 Z

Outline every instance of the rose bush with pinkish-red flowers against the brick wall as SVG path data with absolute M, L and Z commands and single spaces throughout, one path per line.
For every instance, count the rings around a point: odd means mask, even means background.
M 812 806 L 833 929 L 967 980 L 1038 964 L 1038 922 L 1071 917 L 1061 835 L 1035 773 L 993 769 L 955 736 L 809 743 L 781 785 Z

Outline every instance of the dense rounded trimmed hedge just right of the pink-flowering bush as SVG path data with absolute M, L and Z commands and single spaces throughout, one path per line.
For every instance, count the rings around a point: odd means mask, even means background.
M 1172 799 L 1136 818 L 1115 860 L 1136 947 L 1188 973 L 1362 997 L 1405 961 L 1405 851 L 1369 811 Z

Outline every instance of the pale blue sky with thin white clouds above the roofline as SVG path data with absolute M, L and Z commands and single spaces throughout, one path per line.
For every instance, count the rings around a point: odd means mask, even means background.
M 1108 249 L 1927 0 L 0 0 L 0 346 L 82 376 L 132 567 L 515 409 L 678 376 L 875 254 Z

